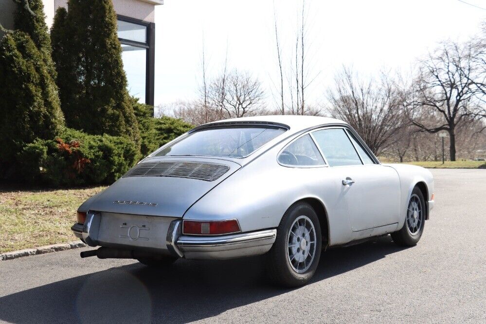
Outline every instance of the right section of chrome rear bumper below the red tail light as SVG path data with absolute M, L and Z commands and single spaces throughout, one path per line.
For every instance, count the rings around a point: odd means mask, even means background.
M 223 236 L 182 235 L 176 244 L 187 259 L 231 259 L 266 253 L 276 237 L 275 229 Z

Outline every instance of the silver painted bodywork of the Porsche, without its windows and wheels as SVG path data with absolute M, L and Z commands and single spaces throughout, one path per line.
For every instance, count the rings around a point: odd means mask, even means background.
M 276 125 L 287 130 L 244 158 L 156 156 L 165 146 L 191 132 L 234 125 Z M 280 152 L 293 141 L 325 128 L 343 128 L 352 133 L 374 163 L 292 167 L 278 162 Z M 225 259 L 268 252 L 282 216 L 299 200 L 306 200 L 318 209 L 327 246 L 345 245 L 401 229 L 408 201 L 417 185 L 426 200 L 426 219 L 434 204 L 434 181 L 427 169 L 380 163 L 358 134 L 337 119 L 315 116 L 230 119 L 198 126 L 173 142 L 139 164 L 204 162 L 225 165 L 227 171 L 213 181 L 122 177 L 79 207 L 88 216 L 84 224 L 72 227 L 74 234 L 91 246 L 194 259 Z M 354 182 L 345 182 L 349 180 Z M 181 233 L 183 220 L 227 219 L 236 219 L 241 233 L 218 236 Z

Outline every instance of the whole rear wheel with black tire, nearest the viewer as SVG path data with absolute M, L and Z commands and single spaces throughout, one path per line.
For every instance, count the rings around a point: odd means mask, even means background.
M 321 226 L 314 209 L 305 202 L 290 206 L 267 255 L 270 279 L 286 287 L 305 285 L 317 269 L 321 247 Z

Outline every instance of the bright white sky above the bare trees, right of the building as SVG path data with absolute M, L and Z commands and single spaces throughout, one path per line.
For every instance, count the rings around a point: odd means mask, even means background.
M 486 0 L 465 0 L 486 8 Z M 155 104 L 191 100 L 201 72 L 202 40 L 208 74 L 223 66 L 247 70 L 263 83 L 269 105 L 278 83 L 273 8 L 283 57 L 295 46 L 302 0 L 164 0 L 156 7 Z M 361 75 L 410 71 L 437 42 L 479 31 L 486 10 L 459 0 L 306 0 L 311 74 L 309 102 L 323 99 L 342 65 Z

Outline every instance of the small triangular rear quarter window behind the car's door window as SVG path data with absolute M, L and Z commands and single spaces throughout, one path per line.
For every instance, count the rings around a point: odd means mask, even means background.
M 296 166 L 325 164 L 316 144 L 308 134 L 288 145 L 278 156 L 278 162 Z

